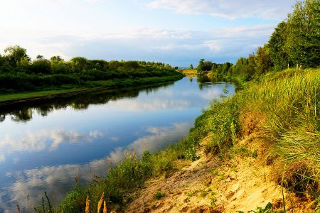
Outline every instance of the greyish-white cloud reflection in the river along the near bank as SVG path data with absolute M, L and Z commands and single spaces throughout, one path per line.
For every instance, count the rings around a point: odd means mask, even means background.
M 90 163 L 7 172 L 6 176 L 15 178 L 16 182 L 6 187 L 6 192 L 1 193 L 1 197 L 6 197 L 11 202 L 8 204 L 1 198 L 0 207 L 11 209 L 11 203 L 19 203 L 25 210 L 30 207 L 33 209 L 33 206 L 41 201 L 45 190 L 49 193 L 51 200 L 56 202 L 76 182 L 88 182 L 97 176 L 106 175 L 111 165 L 119 163 L 124 158 L 127 149 L 135 150 L 138 155 L 142 155 L 144 151 L 157 151 L 183 138 L 191 126 L 192 122 L 176 123 L 171 126 L 147 126 L 144 129 L 147 136 L 137 138 L 126 148 L 115 148 L 107 157 L 92 160 Z

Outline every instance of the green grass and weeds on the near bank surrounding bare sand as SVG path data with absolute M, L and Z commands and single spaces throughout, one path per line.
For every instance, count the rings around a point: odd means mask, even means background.
M 129 193 L 151 177 L 166 177 L 178 170 L 179 159 L 196 160 L 195 148 L 210 134 L 208 151 L 228 151 L 241 136 L 247 114 L 263 115 L 262 138 L 273 155 L 274 180 L 293 192 L 308 193 L 319 202 L 320 177 L 320 70 L 284 70 L 247 82 L 233 97 L 215 99 L 195 121 L 186 138 L 164 151 L 144 153 L 137 158 L 127 153 L 107 177 L 87 186 L 76 186 L 56 207 L 56 212 L 95 212 L 104 193 L 108 207 L 121 211 L 134 199 Z M 317 198 L 318 197 L 318 198 Z M 87 198 L 87 199 L 86 199 Z M 319 203 L 316 203 L 319 206 Z M 320 206 L 319 206 L 320 207 Z M 109 209 L 110 209 L 109 208 Z

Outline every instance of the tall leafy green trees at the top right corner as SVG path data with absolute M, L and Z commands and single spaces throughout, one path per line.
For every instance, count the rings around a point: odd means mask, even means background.
M 320 3 L 318 0 L 298 1 L 286 21 L 279 23 L 269 47 L 275 70 L 294 65 L 320 65 Z

